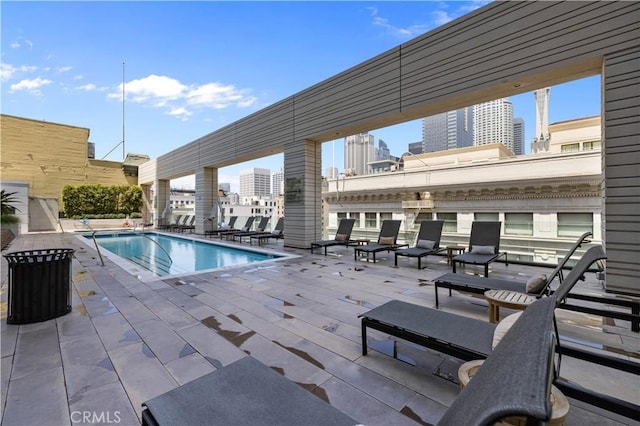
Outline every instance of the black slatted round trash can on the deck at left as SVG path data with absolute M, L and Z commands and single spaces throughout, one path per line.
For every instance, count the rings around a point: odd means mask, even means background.
M 17 251 L 9 263 L 8 324 L 46 321 L 71 312 L 73 249 Z

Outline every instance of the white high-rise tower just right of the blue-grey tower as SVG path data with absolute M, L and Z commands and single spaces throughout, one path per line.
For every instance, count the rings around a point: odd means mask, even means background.
M 513 105 L 509 98 L 473 107 L 473 145 L 501 143 L 513 151 Z

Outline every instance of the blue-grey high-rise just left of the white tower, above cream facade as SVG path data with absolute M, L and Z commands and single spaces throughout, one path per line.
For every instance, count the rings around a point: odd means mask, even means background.
M 422 152 L 473 145 L 473 107 L 432 115 L 422 120 Z

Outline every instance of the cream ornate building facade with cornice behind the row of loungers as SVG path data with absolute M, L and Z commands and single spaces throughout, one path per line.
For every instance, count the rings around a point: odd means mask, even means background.
M 382 220 L 400 219 L 400 239 L 413 244 L 420 221 L 442 219 L 442 245 L 466 245 L 474 220 L 497 220 L 510 260 L 556 263 L 586 231 L 602 241 L 599 117 L 550 129 L 552 152 L 543 156 L 493 144 L 407 156 L 402 171 L 329 181 L 329 233 L 350 217 L 353 238 L 372 238 Z M 576 143 L 581 149 L 567 152 Z

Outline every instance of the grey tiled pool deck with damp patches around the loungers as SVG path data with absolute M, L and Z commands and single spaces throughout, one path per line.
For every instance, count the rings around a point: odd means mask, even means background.
M 331 248 L 325 257 L 274 241 L 266 247 L 299 257 L 142 280 L 108 258 L 101 266 L 96 251 L 73 234 L 21 235 L 3 254 L 76 250 L 73 309 L 41 323 L 7 324 L 2 258 L 2 425 L 139 424 L 144 401 L 248 355 L 363 424 L 437 423 L 459 393 L 462 361 L 403 342 L 398 350 L 408 362 L 399 361 L 385 354 L 393 341 L 375 331 L 373 350 L 362 356 L 358 315 L 391 299 L 434 307 L 432 281 L 450 272 L 446 259 L 430 256 L 418 270 L 415 259 L 403 258 L 395 268 L 386 253 L 375 264 L 354 262 L 352 247 Z M 526 281 L 545 271 L 494 263 L 491 275 Z M 587 274 L 575 291 L 602 288 Z M 441 310 L 488 320 L 483 299 L 444 294 Z M 572 341 L 640 353 L 640 336 L 628 323 L 564 310 L 557 317 Z M 637 376 L 567 357 L 562 373 L 640 403 Z M 567 425 L 634 424 L 570 403 Z

